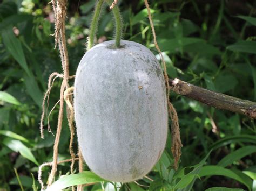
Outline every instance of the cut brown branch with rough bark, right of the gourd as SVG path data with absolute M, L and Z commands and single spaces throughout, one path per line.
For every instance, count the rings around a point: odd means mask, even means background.
M 179 95 L 192 98 L 214 108 L 238 112 L 250 118 L 256 118 L 256 103 L 236 97 L 210 91 L 179 79 L 169 79 L 170 89 Z

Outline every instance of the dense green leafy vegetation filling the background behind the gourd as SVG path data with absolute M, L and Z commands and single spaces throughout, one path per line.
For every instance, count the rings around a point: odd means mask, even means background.
M 66 39 L 73 75 L 85 52 L 95 1 L 68 2 Z M 150 4 L 170 77 L 256 101 L 255 1 L 159 0 Z M 157 55 L 143 1 L 120 0 L 118 5 L 124 18 L 123 39 L 141 43 Z M 102 15 L 99 43 L 112 39 L 113 31 L 107 7 Z M 38 124 L 48 77 L 52 72 L 62 72 L 50 36 L 53 31 L 48 1 L 4 0 L 0 4 L 0 190 L 21 190 L 17 178 L 24 190 L 36 189 L 39 185 L 33 179 L 37 179 L 38 165 L 52 161 L 57 109 L 49 118 L 53 135 L 45 131 L 45 139 L 41 139 Z M 59 88 L 57 79 L 48 113 L 59 99 Z M 171 95 L 171 101 L 179 115 L 184 145 L 179 170 L 172 169 L 169 136 L 163 156 L 149 174 L 154 181 L 143 179 L 138 183 L 146 187 L 129 183 L 117 189 L 256 190 L 254 121 L 176 94 Z M 69 136 L 64 121 L 59 160 L 70 158 Z M 44 168 L 44 182 L 49 170 Z M 56 179 L 69 173 L 69 164 L 59 165 L 58 170 Z M 103 182 L 84 190 L 104 187 L 113 189 L 110 183 Z

